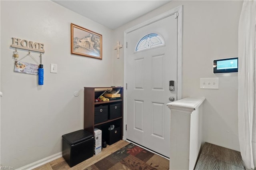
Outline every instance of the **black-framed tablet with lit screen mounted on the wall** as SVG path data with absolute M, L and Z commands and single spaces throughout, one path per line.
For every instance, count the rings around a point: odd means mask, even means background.
M 237 73 L 238 57 L 213 60 L 213 73 Z

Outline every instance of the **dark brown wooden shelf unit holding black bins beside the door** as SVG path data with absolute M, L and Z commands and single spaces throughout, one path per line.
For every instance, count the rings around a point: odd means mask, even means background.
M 112 101 L 95 102 L 106 89 L 121 89 L 121 99 Z M 121 117 L 111 119 L 105 122 L 94 124 L 94 107 L 95 105 L 107 105 L 108 103 L 121 102 Z M 94 127 L 104 126 L 111 123 L 117 124 L 121 127 L 121 139 L 123 137 L 123 87 L 84 87 L 84 130 L 94 134 Z

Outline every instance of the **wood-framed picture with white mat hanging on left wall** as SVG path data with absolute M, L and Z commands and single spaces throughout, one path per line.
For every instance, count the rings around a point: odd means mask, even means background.
M 102 59 L 102 35 L 71 23 L 71 54 Z

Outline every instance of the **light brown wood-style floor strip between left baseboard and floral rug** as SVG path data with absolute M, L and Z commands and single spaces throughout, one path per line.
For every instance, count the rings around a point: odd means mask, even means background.
M 92 164 L 98 162 L 99 160 L 102 160 L 103 158 L 116 152 L 117 150 L 126 146 L 127 144 L 129 144 L 129 142 L 125 140 L 120 140 L 110 146 L 107 145 L 106 148 L 102 149 L 102 152 L 100 154 L 96 156 L 94 155 L 91 158 L 85 160 L 84 162 L 81 162 L 80 164 L 73 166 L 72 168 L 70 168 L 67 162 L 64 160 L 64 158 L 61 157 L 56 160 L 53 160 L 52 162 L 44 164 L 38 168 L 35 168 L 34 170 L 84 170 L 88 166 L 91 166 Z

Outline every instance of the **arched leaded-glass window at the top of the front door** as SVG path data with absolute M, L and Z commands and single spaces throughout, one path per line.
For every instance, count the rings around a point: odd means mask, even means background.
M 164 39 L 156 33 L 146 34 L 137 43 L 135 51 L 149 49 L 159 45 L 164 45 Z

